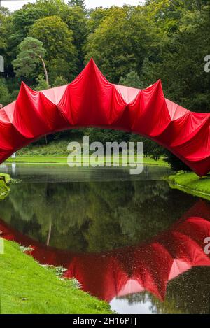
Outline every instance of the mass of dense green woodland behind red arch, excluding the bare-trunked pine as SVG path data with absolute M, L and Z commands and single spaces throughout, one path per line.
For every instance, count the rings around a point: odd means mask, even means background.
M 83 0 L 36 0 L 13 13 L 1 7 L 5 73 L 0 103 L 4 105 L 17 97 L 20 78 L 36 90 L 45 88 L 41 62 L 32 71 L 30 65 L 24 66 L 22 74 L 15 68 L 20 44 L 31 36 L 43 43 L 51 86 L 71 82 L 94 57 L 113 83 L 143 88 L 161 78 L 166 97 L 190 110 L 210 111 L 210 73 L 204 71 L 204 57 L 210 55 L 208 0 L 147 0 L 139 6 L 94 10 L 86 10 Z M 151 141 L 123 132 L 93 129 L 88 134 L 102 142 L 144 140 L 146 154 L 154 158 L 165 152 Z M 181 167 L 174 157 L 169 156 L 169 162 L 175 169 Z

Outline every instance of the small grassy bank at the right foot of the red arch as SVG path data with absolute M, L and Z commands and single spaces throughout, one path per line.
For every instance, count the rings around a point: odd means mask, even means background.
M 180 172 L 169 176 L 167 180 L 172 188 L 210 200 L 210 175 L 200 178 L 193 172 Z

